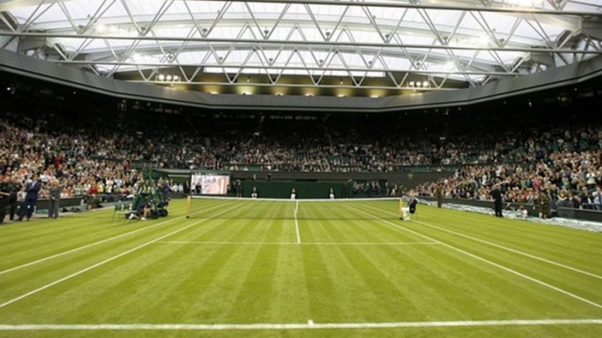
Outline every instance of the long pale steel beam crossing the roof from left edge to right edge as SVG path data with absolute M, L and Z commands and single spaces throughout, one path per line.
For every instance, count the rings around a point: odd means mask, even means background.
M 357 46 L 358 43 L 340 41 L 299 41 L 299 40 L 253 40 L 236 38 L 182 38 L 176 36 L 123 36 L 123 35 L 95 35 L 95 34 L 49 34 L 49 33 L 14 33 L 0 30 L 0 36 L 18 36 L 35 38 L 80 38 L 80 39 L 107 39 L 107 40 L 131 40 L 131 41 L 195 41 L 199 43 L 254 43 L 257 45 L 307 45 L 307 46 Z M 418 45 L 399 43 L 360 43 L 363 47 L 391 47 L 391 48 L 413 48 L 426 50 L 483 50 L 495 52 L 549 52 L 549 53 L 574 53 L 574 54 L 602 54 L 599 50 L 572 50 L 537 48 L 537 47 L 482 47 L 465 45 Z

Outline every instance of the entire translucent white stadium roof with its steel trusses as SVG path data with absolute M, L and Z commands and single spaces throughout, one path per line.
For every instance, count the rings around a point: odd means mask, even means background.
M 0 47 L 104 77 L 450 90 L 601 53 L 602 0 L 0 0 Z

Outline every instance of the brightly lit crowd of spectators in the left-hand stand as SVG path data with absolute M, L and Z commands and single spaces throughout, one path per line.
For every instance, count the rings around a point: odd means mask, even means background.
M 23 186 L 38 174 L 42 184 L 59 181 L 64 198 L 101 193 L 127 196 L 141 179 L 140 171 L 132 169 L 127 160 L 114 162 L 92 157 L 94 147 L 99 146 L 92 146 L 93 140 L 84 135 L 54 136 L 37 127 L 18 128 L 6 121 L 0 132 L 2 181 L 8 179 Z

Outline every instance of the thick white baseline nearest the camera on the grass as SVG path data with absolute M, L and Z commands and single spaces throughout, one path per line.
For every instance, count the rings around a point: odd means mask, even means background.
M 337 322 L 290 324 L 39 324 L 0 325 L 0 331 L 97 331 L 97 330 L 163 330 L 163 331 L 224 331 L 224 330 L 275 330 L 275 329 L 393 329 L 404 327 L 487 327 L 487 326 L 552 326 L 552 325 L 602 325 L 601 319 L 558 320 L 462 320 L 448 322 Z

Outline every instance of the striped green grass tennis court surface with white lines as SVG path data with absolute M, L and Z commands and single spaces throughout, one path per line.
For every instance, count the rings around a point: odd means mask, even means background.
M 0 227 L 0 337 L 602 337 L 602 234 L 397 201 Z

